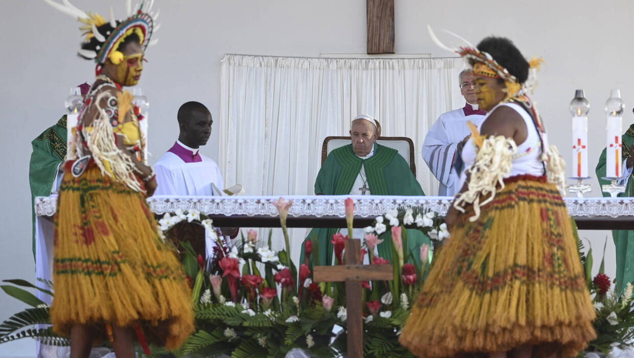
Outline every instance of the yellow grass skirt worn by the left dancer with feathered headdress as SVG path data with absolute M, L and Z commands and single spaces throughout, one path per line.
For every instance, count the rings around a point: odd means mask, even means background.
M 157 233 L 142 193 L 101 175 L 66 170 L 55 217 L 53 329 L 75 324 L 107 337 L 107 324 L 141 328 L 146 340 L 178 348 L 193 331 L 190 289 L 176 253 Z

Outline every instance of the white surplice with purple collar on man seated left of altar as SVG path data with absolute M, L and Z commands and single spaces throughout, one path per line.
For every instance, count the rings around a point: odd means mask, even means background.
M 174 146 L 159 158 L 154 164 L 154 172 L 157 176 L 157 189 L 154 195 L 221 196 L 222 193 L 216 191 L 216 188 L 224 189 L 223 176 L 217 163 L 212 158 L 198 153 L 198 149 L 190 148 L 181 141 L 176 141 Z M 216 235 L 221 235 L 219 230 L 216 231 Z M 205 229 L 207 259 L 212 257 L 216 245 L 212 233 Z

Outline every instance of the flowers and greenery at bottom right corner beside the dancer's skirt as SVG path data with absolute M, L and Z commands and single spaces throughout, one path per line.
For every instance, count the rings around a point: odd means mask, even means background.
M 606 238 L 607 241 L 607 238 Z M 611 287 L 611 279 L 604 272 L 604 261 L 601 261 L 599 272 L 592 278 L 592 248 L 583 255 L 583 244 L 579 241 L 579 255 L 583 264 L 586 284 L 592 295 L 592 303 L 597 318 L 592 325 L 597 338 L 588 344 L 590 352 L 601 352 L 609 355 L 614 348 L 627 350 L 634 346 L 634 286 L 627 283 L 621 295 Z M 605 254 L 605 246 L 604 246 Z

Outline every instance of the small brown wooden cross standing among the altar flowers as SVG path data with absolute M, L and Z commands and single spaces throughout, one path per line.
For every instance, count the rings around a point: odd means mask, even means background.
M 361 240 L 346 241 L 346 264 L 337 266 L 315 266 L 315 282 L 346 283 L 346 314 L 348 331 L 347 357 L 363 357 L 363 307 L 361 283 L 363 281 L 391 281 L 392 265 L 363 265 L 361 262 Z

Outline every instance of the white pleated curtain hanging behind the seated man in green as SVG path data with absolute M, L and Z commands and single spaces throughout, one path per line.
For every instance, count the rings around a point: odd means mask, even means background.
M 348 135 L 351 120 L 367 114 L 381 123 L 382 136 L 412 139 L 417 179 L 425 194 L 437 195 L 420 150 L 438 116 L 464 105 L 464 67 L 462 58 L 227 54 L 217 126 L 224 182 L 242 184 L 247 195 L 313 195 L 323 139 Z M 304 231 L 292 232 L 296 257 Z

